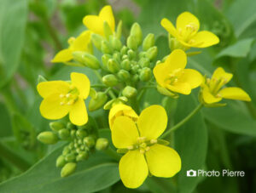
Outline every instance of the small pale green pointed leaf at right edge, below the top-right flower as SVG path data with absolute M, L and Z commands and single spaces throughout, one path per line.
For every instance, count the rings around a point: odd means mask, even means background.
M 228 48 L 224 48 L 217 56 L 216 59 L 222 56 L 230 57 L 246 57 L 249 54 L 254 38 L 243 39 Z

